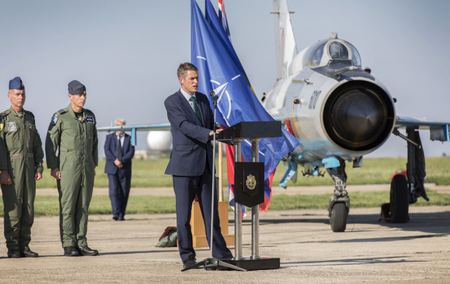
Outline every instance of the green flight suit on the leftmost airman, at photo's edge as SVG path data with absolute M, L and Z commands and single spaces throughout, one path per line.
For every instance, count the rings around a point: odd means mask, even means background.
M 31 240 L 34 220 L 34 173 L 42 173 L 42 142 L 34 115 L 17 114 L 12 107 L 0 114 L 0 169 L 7 169 L 12 183 L 1 184 L 4 237 L 8 249 L 24 249 Z

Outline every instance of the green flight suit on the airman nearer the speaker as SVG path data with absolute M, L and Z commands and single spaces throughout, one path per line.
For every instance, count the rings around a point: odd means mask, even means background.
M 87 210 L 98 164 L 95 124 L 92 111 L 83 108 L 80 121 L 69 104 L 54 113 L 48 126 L 45 139 L 47 167 L 57 167 L 61 173 L 56 184 L 62 247 L 87 245 Z

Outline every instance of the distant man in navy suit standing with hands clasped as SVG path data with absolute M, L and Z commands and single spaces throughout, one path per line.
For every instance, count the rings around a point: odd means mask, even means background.
M 117 118 L 115 125 L 125 125 L 125 120 Z M 131 145 L 130 138 L 124 131 L 115 131 L 108 134 L 104 142 L 104 172 L 108 174 L 109 199 L 114 220 L 125 220 L 126 202 L 131 186 L 131 158 L 134 156 L 134 146 Z

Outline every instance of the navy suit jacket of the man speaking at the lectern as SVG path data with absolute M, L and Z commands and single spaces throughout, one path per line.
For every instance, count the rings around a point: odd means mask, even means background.
M 181 91 L 178 90 L 164 100 L 172 133 L 172 152 L 165 174 L 201 175 L 207 160 L 212 172 L 209 132 L 213 129 L 214 117 L 206 95 L 195 92 L 195 97 L 203 123 Z

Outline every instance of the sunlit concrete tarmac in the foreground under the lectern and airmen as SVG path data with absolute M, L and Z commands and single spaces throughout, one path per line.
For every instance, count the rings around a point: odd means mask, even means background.
M 379 222 L 379 212 L 350 209 L 341 233 L 331 231 L 326 210 L 260 212 L 259 253 L 279 257 L 281 267 L 247 272 L 181 272 L 176 247 L 155 247 L 174 213 L 91 215 L 88 244 L 99 255 L 79 257 L 62 256 L 58 217 L 37 217 L 30 247 L 39 257 L 6 258 L 1 245 L 0 283 L 450 283 L 450 206 L 411 207 L 405 224 Z M 233 233 L 232 212 L 229 219 Z M 242 231 L 249 256 L 249 217 Z M 207 248 L 196 253 L 209 256 Z

